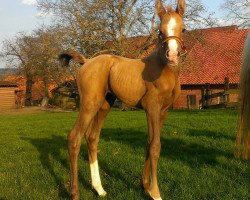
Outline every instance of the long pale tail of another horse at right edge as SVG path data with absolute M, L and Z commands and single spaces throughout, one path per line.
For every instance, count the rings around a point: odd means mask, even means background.
M 250 159 L 250 33 L 244 45 L 240 73 L 240 113 L 235 153 L 238 158 Z

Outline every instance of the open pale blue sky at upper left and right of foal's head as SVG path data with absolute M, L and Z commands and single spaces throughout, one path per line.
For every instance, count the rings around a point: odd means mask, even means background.
M 219 10 L 224 0 L 201 1 L 210 12 L 220 17 Z M 48 19 L 42 17 L 36 9 L 36 0 L 0 0 L 0 19 L 0 50 L 4 39 L 13 38 L 18 32 L 32 32 L 48 23 Z M 3 63 L 0 63 L 0 67 L 4 67 Z

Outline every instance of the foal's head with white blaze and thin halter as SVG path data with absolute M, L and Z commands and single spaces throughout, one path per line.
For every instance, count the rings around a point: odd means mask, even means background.
M 178 64 L 180 52 L 185 51 L 182 40 L 184 30 L 183 15 L 185 12 L 185 0 L 178 0 L 177 8 L 164 8 L 161 0 L 156 0 L 156 12 L 160 18 L 159 43 L 166 60 L 171 65 Z

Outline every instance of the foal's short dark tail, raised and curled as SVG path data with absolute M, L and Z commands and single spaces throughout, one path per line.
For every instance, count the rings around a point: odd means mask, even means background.
M 58 56 L 59 61 L 61 62 L 62 66 L 69 66 L 69 61 L 71 59 L 75 60 L 76 62 L 80 63 L 81 65 L 83 65 L 88 59 L 85 58 L 82 54 L 76 52 L 76 51 L 65 51 L 62 52 L 59 56 Z

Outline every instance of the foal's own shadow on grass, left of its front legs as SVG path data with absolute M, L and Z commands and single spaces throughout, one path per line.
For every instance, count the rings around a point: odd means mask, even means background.
M 55 136 L 52 135 L 51 138 L 28 138 L 21 137 L 22 140 L 28 141 L 32 144 L 37 151 L 39 152 L 39 159 L 43 166 L 43 168 L 50 173 L 55 181 L 56 187 L 58 187 L 58 198 L 59 199 L 70 199 L 69 193 L 69 185 L 65 185 L 65 181 L 63 180 L 62 175 L 58 174 L 58 170 L 56 170 L 56 166 L 54 162 L 60 163 L 60 165 L 67 170 L 69 170 L 69 161 L 65 158 L 65 156 L 61 155 L 61 151 L 67 151 L 67 139 L 63 136 Z M 88 154 L 85 143 L 83 142 L 81 146 L 81 152 L 78 159 L 84 159 L 84 161 L 88 162 Z M 53 159 L 53 161 L 51 161 Z M 105 160 L 100 162 L 102 170 L 104 170 L 113 180 L 120 180 L 124 182 L 131 189 L 136 190 L 141 194 L 141 196 L 145 196 L 143 190 L 140 188 L 139 184 L 132 184 L 127 181 L 125 178 L 120 176 L 119 170 L 115 168 L 110 168 L 108 163 Z M 79 166 L 80 169 L 80 166 Z M 79 170 L 80 171 L 80 170 Z M 88 181 L 86 181 L 88 177 L 86 174 L 79 172 L 79 184 L 82 184 L 86 190 L 91 190 L 91 185 Z M 96 192 L 92 189 L 93 193 L 96 195 Z M 145 196 L 146 197 L 146 196 Z M 147 199 L 147 198 L 146 198 Z

